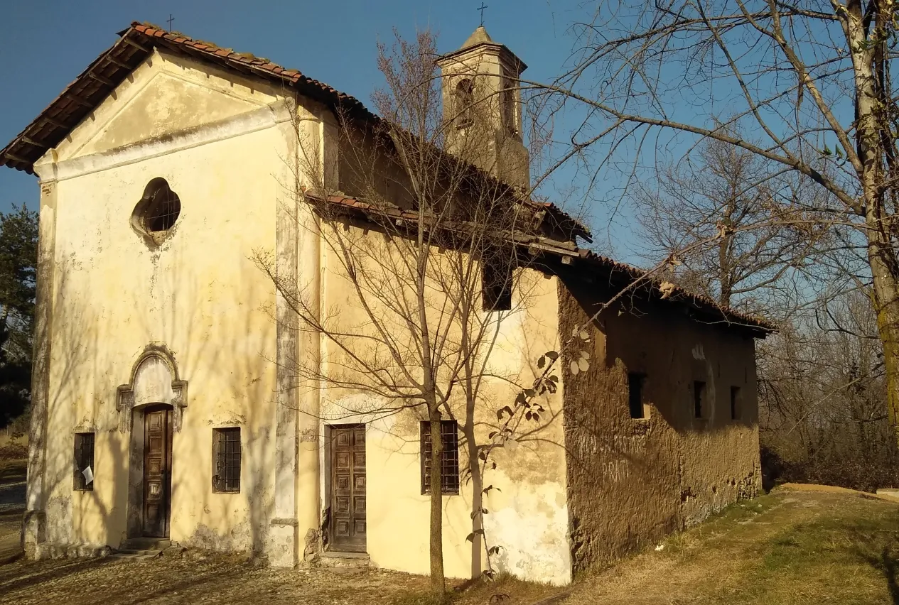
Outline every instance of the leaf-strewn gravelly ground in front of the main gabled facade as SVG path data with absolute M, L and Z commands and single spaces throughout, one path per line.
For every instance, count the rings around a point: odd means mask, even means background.
M 17 561 L 0 566 L 0 602 L 391 603 L 427 579 L 352 568 L 275 570 L 227 557 Z

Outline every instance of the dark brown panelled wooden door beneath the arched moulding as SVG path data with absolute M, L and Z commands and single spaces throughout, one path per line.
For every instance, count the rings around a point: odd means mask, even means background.
M 172 408 L 144 412 L 144 535 L 168 538 L 172 509 Z

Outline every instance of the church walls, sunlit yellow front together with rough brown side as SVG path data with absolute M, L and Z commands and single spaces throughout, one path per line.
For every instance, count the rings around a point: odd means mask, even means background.
M 125 538 L 133 446 L 129 432 L 120 430 L 117 388 L 129 382 L 147 346 L 160 346 L 171 352 L 178 378 L 188 383 L 182 425 L 174 434 L 171 539 L 203 548 L 268 549 L 277 565 L 302 560 L 303 540 L 316 535 L 330 504 L 325 425 L 365 423 L 371 562 L 428 573 L 430 496 L 421 494 L 419 447 L 423 410 L 372 414 L 379 402 L 364 389 L 285 388 L 292 370 L 277 369 L 276 358 L 287 355 L 321 363 L 325 375 L 334 376 L 341 360 L 326 338 L 290 336 L 283 323 L 276 327 L 274 317 L 284 316 L 285 305 L 250 259 L 255 250 L 273 252 L 280 275 L 295 273 L 323 314 L 344 326 L 366 320 L 334 250 L 316 235 L 308 208 L 298 209 L 284 189 L 296 184 L 285 160 L 298 144 L 312 145 L 307 151 L 321 161 L 316 170 L 324 175 L 305 179 L 306 185 L 364 189 L 352 164 L 340 158 L 334 120 L 328 122 L 314 103 L 299 105 L 291 110 L 279 91 L 257 81 L 156 52 L 38 162 L 50 191 L 42 197 L 41 220 L 54 222 L 52 228 L 41 224 L 42 233 L 54 233 L 55 267 L 48 542 L 118 547 Z M 290 122 L 297 116 L 301 141 Z M 158 248 L 129 224 L 147 182 L 156 177 L 167 180 L 182 204 L 174 231 Z M 402 180 L 374 189 L 390 195 L 396 184 Z M 496 377 L 485 381 L 473 418 L 478 443 L 490 441 L 496 409 L 513 405 L 519 385 L 530 386 L 539 356 L 558 350 L 560 331 L 568 333 L 572 322 L 583 319 L 574 300 L 560 298 L 562 290 L 556 277 L 524 271 L 514 311 L 501 322 L 491 353 L 490 373 Z M 585 294 L 585 303 L 595 302 L 593 294 Z M 485 477 L 494 490 L 484 505 L 487 545 L 501 547 L 493 560 L 497 571 L 567 583 L 573 566 L 570 523 L 580 532 L 577 539 L 589 534 L 590 544 L 575 545 L 586 566 L 752 489 L 758 460 L 752 341 L 686 320 L 610 322 L 613 329 L 595 330 L 592 372 L 560 373 L 565 384 L 542 400 L 547 412 L 539 423 L 522 425 L 516 444 L 494 455 L 497 467 Z M 621 415 L 627 411 L 620 408 L 626 403 L 621 380 L 626 368 L 640 364 L 651 375 L 647 393 L 654 411 L 646 430 L 630 439 L 634 426 Z M 682 387 L 707 375 L 713 397 L 723 392 L 714 390 L 719 382 L 743 386 L 749 413 L 743 424 L 713 416 L 709 427 L 700 427 L 681 417 L 684 401 L 689 403 Z M 625 455 L 606 455 L 608 443 L 590 450 L 595 439 L 563 430 L 563 401 L 571 419 L 588 410 L 597 421 L 594 428 L 614 447 L 621 435 L 644 445 L 647 435 L 658 435 L 658 443 Z M 464 420 L 458 398 L 450 407 Z M 227 425 L 242 429 L 241 492 L 213 494 L 212 429 Z M 277 436 L 278 430 L 287 433 Z M 72 489 L 73 441 L 80 431 L 96 434 L 91 492 Z M 565 443 L 571 435 L 576 443 Z M 590 447 L 584 450 L 586 442 Z M 461 434 L 459 444 L 459 467 L 465 469 Z M 566 446 L 589 450 L 582 475 L 566 460 Z M 717 454 L 725 450 L 726 456 Z M 569 485 L 571 477 L 587 480 Z M 463 481 L 460 491 L 442 497 L 445 569 L 451 577 L 469 577 L 485 567 L 466 539 L 472 484 Z

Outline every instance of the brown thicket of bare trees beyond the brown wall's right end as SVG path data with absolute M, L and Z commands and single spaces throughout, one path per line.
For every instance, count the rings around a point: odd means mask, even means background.
M 895 484 L 899 452 L 868 296 L 841 294 L 794 318 L 760 354 L 759 425 L 769 473 L 868 491 Z

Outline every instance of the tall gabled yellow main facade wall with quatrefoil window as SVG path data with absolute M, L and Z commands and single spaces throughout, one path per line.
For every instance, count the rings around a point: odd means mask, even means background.
M 263 548 L 273 491 L 275 291 L 252 257 L 276 239 L 288 149 L 279 111 L 276 92 L 258 82 L 157 52 L 37 166 L 56 206 L 49 545 L 116 548 L 127 537 L 132 431 L 143 425 L 122 422 L 129 412 L 117 411 L 117 388 L 155 347 L 187 383 L 174 433 L 171 539 Z M 181 201 L 158 247 L 129 224 L 157 177 Z M 213 431 L 225 426 L 241 430 L 236 494 L 212 490 Z M 75 434 L 83 432 L 95 435 L 92 491 L 73 489 Z

